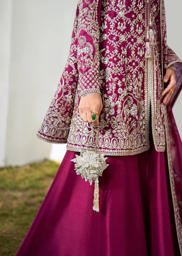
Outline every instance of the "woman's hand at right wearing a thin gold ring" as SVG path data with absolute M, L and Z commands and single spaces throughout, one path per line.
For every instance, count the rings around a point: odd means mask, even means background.
M 168 86 L 165 88 L 165 90 L 163 90 L 161 96 L 163 96 L 165 94 L 165 97 L 163 98 L 163 104 L 167 105 L 169 103 L 169 100 L 171 98 L 171 89 L 175 89 L 176 88 L 176 76 L 175 76 L 175 71 L 172 68 L 168 68 L 166 70 L 166 74 L 163 78 L 163 82 L 167 83 L 167 81 L 169 81 Z

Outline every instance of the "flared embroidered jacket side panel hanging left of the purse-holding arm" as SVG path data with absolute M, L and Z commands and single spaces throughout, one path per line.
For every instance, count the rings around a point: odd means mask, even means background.
M 39 139 L 49 143 L 67 142 L 74 99 L 78 81 L 77 69 L 77 26 L 79 9 L 77 6 L 73 24 L 69 57 L 66 61 L 56 92 L 37 132 Z

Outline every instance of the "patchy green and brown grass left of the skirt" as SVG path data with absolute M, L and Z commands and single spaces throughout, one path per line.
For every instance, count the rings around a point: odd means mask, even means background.
M 0 255 L 14 256 L 60 163 L 45 160 L 0 168 Z

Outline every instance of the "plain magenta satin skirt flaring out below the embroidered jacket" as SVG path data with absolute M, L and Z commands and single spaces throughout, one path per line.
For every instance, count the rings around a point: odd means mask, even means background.
M 76 175 L 66 151 L 56 176 L 16 256 L 180 255 L 170 191 L 167 153 L 107 156 L 99 177 L 99 212 L 92 209 L 94 183 Z

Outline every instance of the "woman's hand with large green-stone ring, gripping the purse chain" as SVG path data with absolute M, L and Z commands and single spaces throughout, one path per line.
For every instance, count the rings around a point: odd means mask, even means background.
M 99 116 L 96 115 L 96 120 L 92 120 L 92 111 L 100 114 L 103 108 L 102 98 L 99 94 L 88 94 L 82 96 L 79 102 L 79 115 L 84 122 L 98 123 Z

